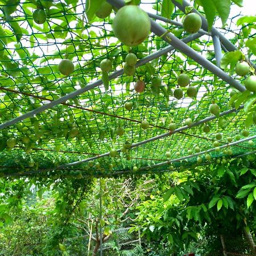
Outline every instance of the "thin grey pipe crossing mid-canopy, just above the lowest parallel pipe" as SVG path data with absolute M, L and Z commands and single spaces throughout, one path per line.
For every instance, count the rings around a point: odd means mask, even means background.
M 240 108 L 238 108 L 238 109 L 226 110 L 226 111 L 220 113 L 220 117 L 222 117 L 222 116 L 224 116 L 226 114 L 237 112 L 238 110 L 240 110 L 242 108 L 243 108 L 243 105 L 241 105 Z M 146 143 L 149 143 L 149 142 L 152 142 L 152 141 L 156 141 L 156 140 L 162 139 L 164 137 L 168 137 L 171 134 L 178 133 L 179 131 L 183 131 L 183 130 L 186 130 L 186 129 L 189 129 L 189 128 L 201 125 L 202 123 L 209 122 L 209 121 L 211 121 L 211 120 L 213 120 L 215 118 L 217 118 L 216 115 L 211 115 L 210 117 L 207 117 L 207 118 L 204 118 L 204 119 L 202 119 L 202 120 L 200 120 L 198 122 L 192 123 L 191 126 L 185 125 L 185 126 L 180 127 L 180 128 L 178 128 L 178 129 L 176 129 L 176 130 L 174 130 L 172 132 L 168 131 L 168 133 L 163 133 L 163 134 L 160 134 L 158 136 L 152 137 L 150 139 L 146 139 L 145 141 L 134 143 L 134 144 L 131 145 L 130 148 L 138 147 L 138 146 L 141 146 L 143 144 L 146 144 Z M 118 149 L 117 152 L 121 152 L 121 149 Z M 101 154 L 101 155 L 93 156 L 92 158 L 86 158 L 84 160 L 80 160 L 80 161 L 76 161 L 76 162 L 72 162 L 72 163 L 68 163 L 68 164 L 63 164 L 63 165 L 57 167 L 57 169 L 63 169 L 63 168 L 69 167 L 69 166 L 75 166 L 76 164 L 81 164 L 81 163 L 89 162 L 89 161 L 92 161 L 92 160 L 95 160 L 95 159 L 98 159 L 98 158 L 102 158 L 104 156 L 109 156 L 109 152 L 106 152 L 106 153 Z

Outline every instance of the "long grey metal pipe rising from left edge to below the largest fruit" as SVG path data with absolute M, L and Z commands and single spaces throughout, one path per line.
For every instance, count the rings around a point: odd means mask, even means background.
M 201 36 L 201 34 L 199 34 L 199 33 L 187 36 L 187 38 L 183 39 L 183 42 L 185 44 L 189 43 L 189 42 L 191 42 L 191 41 L 193 41 L 193 40 L 195 40 L 197 38 L 200 38 L 200 36 Z M 136 64 L 136 67 L 144 65 L 145 63 L 148 63 L 149 61 L 154 60 L 154 59 L 158 58 L 159 56 L 164 55 L 167 52 L 170 52 L 170 51 L 172 51 L 174 49 L 175 48 L 172 47 L 172 46 L 167 46 L 167 47 L 165 47 L 163 49 L 160 49 L 159 51 L 156 51 L 156 52 L 152 53 L 151 55 L 148 55 L 148 56 L 144 57 L 143 59 L 139 60 L 137 62 L 137 64 Z M 109 79 L 110 80 L 111 79 L 115 79 L 116 77 L 121 76 L 122 74 L 123 74 L 123 69 L 120 69 L 118 71 L 113 72 L 111 75 L 109 75 Z M 82 94 L 84 92 L 87 92 L 90 89 L 93 89 L 93 88 L 96 88 L 97 86 L 102 85 L 102 83 L 103 83 L 102 80 L 97 80 L 95 82 L 92 82 L 92 83 L 86 85 L 84 88 L 75 90 L 74 92 L 68 93 L 67 95 L 65 95 L 63 97 L 60 97 L 57 100 L 51 101 L 51 102 L 49 102 L 47 104 L 44 104 L 43 106 L 40 106 L 37 109 L 34 109 L 34 110 L 30 111 L 30 112 L 27 112 L 27 113 L 25 113 L 23 115 L 20 115 L 19 117 L 13 118 L 10 121 L 7 121 L 5 123 L 2 123 L 0 125 L 0 130 L 5 128 L 5 127 L 9 127 L 11 125 L 14 125 L 15 123 L 18 123 L 18 122 L 20 122 L 20 121 L 22 121 L 22 120 L 24 120 L 26 118 L 32 117 L 33 115 L 39 114 L 39 113 L 43 112 L 46 109 L 53 108 L 53 106 L 61 104 L 62 102 L 67 101 L 70 98 L 75 98 L 75 97 L 79 96 L 79 94 Z

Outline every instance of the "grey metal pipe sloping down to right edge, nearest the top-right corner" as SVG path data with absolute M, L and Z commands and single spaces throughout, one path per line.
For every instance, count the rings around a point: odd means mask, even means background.
M 172 0 L 172 2 L 173 2 L 174 5 L 176 5 L 181 11 L 183 11 L 183 13 L 185 13 L 185 8 L 186 8 L 187 6 L 191 6 L 191 5 L 190 5 L 187 1 L 185 1 L 185 0 L 182 1 L 182 5 L 180 5 L 180 3 L 177 2 L 177 1 L 175 1 L 175 0 Z M 201 15 L 201 14 L 199 13 L 199 11 L 197 11 L 195 8 L 192 9 L 192 12 L 193 12 L 193 13 L 197 13 L 197 14 L 199 14 L 199 15 L 201 16 L 201 19 L 202 19 L 202 28 L 203 28 L 203 30 L 208 31 L 208 22 L 207 22 L 207 19 L 206 19 L 203 15 Z M 234 44 L 232 44 L 232 43 L 225 37 L 225 35 L 223 35 L 220 31 L 218 31 L 216 27 L 212 27 L 211 32 L 212 32 L 212 35 L 217 35 L 217 36 L 220 38 L 222 44 L 224 45 L 224 47 L 225 47 L 229 52 L 237 51 L 237 47 L 234 46 Z M 246 57 L 246 60 L 249 61 L 249 63 L 253 66 L 253 68 L 254 68 L 255 71 L 256 71 L 256 65 L 255 65 L 253 62 L 251 62 L 247 57 Z

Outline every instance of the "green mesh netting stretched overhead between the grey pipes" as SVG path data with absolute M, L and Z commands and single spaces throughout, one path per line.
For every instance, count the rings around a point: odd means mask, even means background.
M 147 2 L 148 6 L 156 4 L 160 10 L 160 1 Z M 90 82 L 101 78 L 100 62 L 109 58 L 113 61 L 113 71 L 121 69 L 129 47 L 117 42 L 112 32 L 112 20 L 94 19 L 86 22 L 85 4 L 67 1 L 41 1 L 38 5 L 46 7 L 47 22 L 38 25 L 32 20 L 34 2 L 23 2 L 12 14 L 13 20 L 3 19 L 0 27 L 0 65 L 1 96 L 0 114 L 2 123 L 30 112 L 43 104 L 65 96 L 76 89 L 83 88 Z M 146 4 L 143 5 L 146 8 Z M 155 10 L 151 10 L 151 12 Z M 156 11 L 160 15 L 160 11 Z M 176 9 L 172 19 L 181 21 L 183 13 Z M 232 43 L 238 44 L 244 32 L 236 26 L 237 17 L 229 20 L 230 26 L 220 31 Z M 172 24 L 157 21 L 177 38 L 188 36 L 183 29 Z M 218 23 L 218 20 L 217 22 Z M 17 42 L 17 40 L 19 42 Z M 202 35 L 188 43 L 209 61 L 216 64 L 211 36 Z M 168 46 L 158 36 L 151 34 L 143 44 L 132 49 L 138 60 L 143 59 L 159 49 Z M 61 59 L 71 59 L 75 71 L 70 76 L 63 76 L 58 70 Z M 255 56 L 249 56 L 255 61 Z M 177 75 L 181 69 L 191 77 L 191 84 L 196 86 L 196 98 L 185 94 L 181 100 L 173 97 Z M 151 88 L 150 81 L 154 75 L 162 77 L 162 87 Z M 240 77 L 232 75 L 242 81 Z M 147 86 L 143 93 L 133 90 L 134 81 L 143 79 Z M 177 127 L 184 126 L 185 118 L 194 122 L 209 117 L 208 108 L 216 102 L 221 112 L 229 110 L 228 102 L 231 88 L 226 82 L 218 79 L 207 69 L 178 51 L 170 51 L 149 63 L 137 68 L 134 76 L 122 75 L 110 81 L 110 87 L 98 86 L 76 98 L 65 101 L 51 109 L 27 118 L 22 122 L 1 130 L 0 149 L 1 166 L 4 175 L 44 172 L 52 174 L 62 164 L 80 161 L 92 156 L 109 152 L 111 148 L 121 148 L 126 142 L 138 143 L 157 135 L 166 133 L 170 122 Z M 125 102 L 132 102 L 133 109 L 123 108 Z M 203 133 L 203 126 L 184 130 L 169 137 L 143 144 L 121 153 L 117 158 L 105 156 L 94 160 L 94 166 L 88 163 L 67 167 L 68 170 L 81 171 L 82 174 L 105 175 L 109 172 L 132 171 L 134 166 L 154 166 L 156 163 L 188 155 L 188 150 L 201 148 L 201 151 L 212 148 L 214 134 L 222 133 L 221 145 L 226 144 L 228 136 L 234 137 L 245 126 L 246 114 L 243 110 L 223 117 L 226 124 L 221 127 L 221 119 L 208 123 L 210 133 Z M 140 122 L 146 119 L 150 128 L 143 130 Z M 115 134 L 117 127 L 123 126 L 125 134 Z M 72 128 L 78 128 L 79 134 L 73 136 Z M 250 136 L 255 135 L 255 126 L 250 126 Z M 23 138 L 28 137 L 28 143 Z M 8 138 L 16 139 L 12 150 L 6 147 Z M 255 141 L 254 141 L 255 145 Z M 254 151 L 255 146 L 247 142 L 232 146 L 233 156 L 243 152 Z M 179 152 L 179 155 L 177 155 Z M 212 159 L 226 156 L 223 150 L 213 151 Z M 203 156 L 204 158 L 204 156 Z M 31 162 L 34 162 L 34 166 Z M 100 162 L 101 169 L 95 167 Z M 109 163 L 114 164 L 110 170 Z M 183 162 L 184 166 L 196 163 L 196 157 Z M 205 163 L 205 160 L 203 164 Z M 176 163 L 179 166 L 180 163 Z M 30 165 L 30 166 L 29 166 Z M 103 169 L 104 168 L 104 169 Z M 153 171 L 168 170 L 168 164 L 152 168 Z M 47 172 L 48 171 L 48 172 Z

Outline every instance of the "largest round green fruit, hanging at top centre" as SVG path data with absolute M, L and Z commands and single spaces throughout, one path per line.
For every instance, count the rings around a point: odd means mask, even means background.
M 114 35 L 126 46 L 138 46 L 150 34 L 150 18 L 135 5 L 126 5 L 117 11 L 113 20 Z

